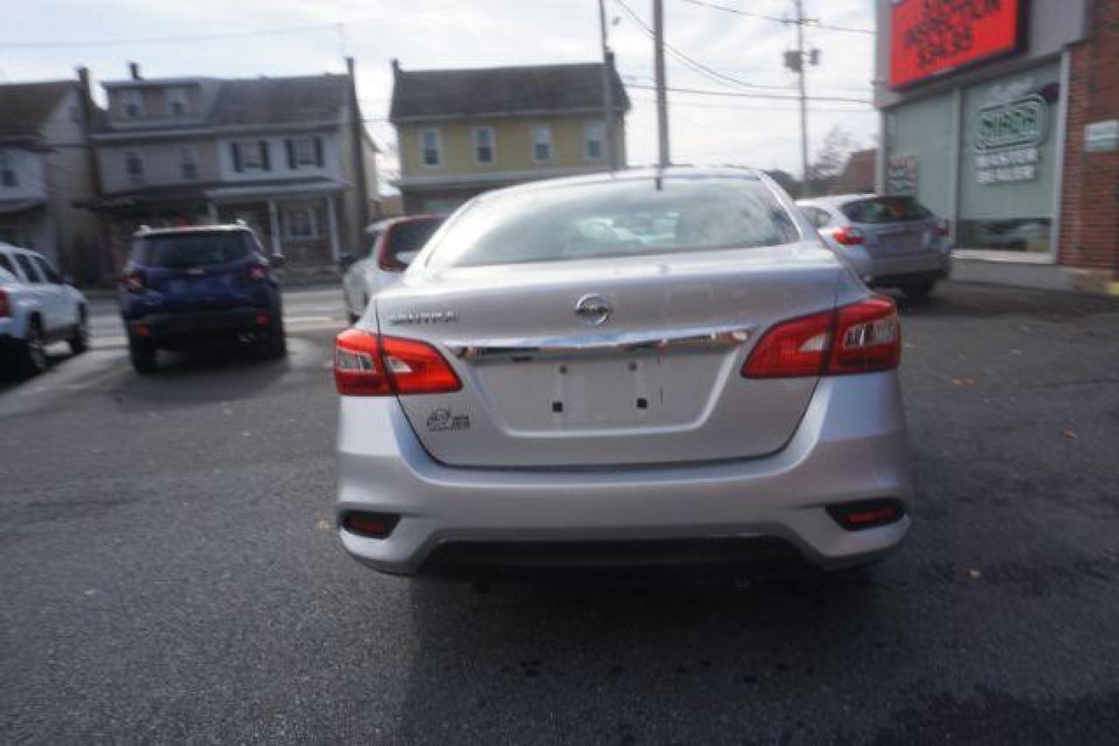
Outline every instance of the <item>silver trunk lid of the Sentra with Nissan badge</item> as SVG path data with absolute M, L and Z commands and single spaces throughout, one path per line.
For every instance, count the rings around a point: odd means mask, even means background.
M 434 344 L 463 383 L 402 396 L 431 455 L 458 466 L 742 459 L 791 437 L 816 378 L 747 380 L 774 322 L 833 308 L 815 244 L 448 268 L 377 298 L 382 334 Z

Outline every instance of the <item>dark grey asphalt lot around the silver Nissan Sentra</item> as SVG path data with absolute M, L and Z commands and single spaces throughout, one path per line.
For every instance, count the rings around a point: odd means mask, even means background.
M 336 291 L 292 355 L 0 388 L 0 742 L 1113 742 L 1119 303 L 903 308 L 906 546 L 734 587 L 378 576 L 331 530 Z

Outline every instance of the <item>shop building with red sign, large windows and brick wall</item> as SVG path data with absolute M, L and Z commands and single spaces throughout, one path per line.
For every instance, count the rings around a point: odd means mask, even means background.
M 878 0 L 876 187 L 958 274 L 1119 293 L 1119 0 Z

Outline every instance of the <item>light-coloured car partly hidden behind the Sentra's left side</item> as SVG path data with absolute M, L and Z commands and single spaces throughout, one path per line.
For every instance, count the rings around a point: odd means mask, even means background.
M 342 291 L 350 323 L 365 313 L 369 299 L 401 277 L 445 217 L 417 215 L 389 218 L 365 229 L 369 253 L 360 258 L 342 254 Z

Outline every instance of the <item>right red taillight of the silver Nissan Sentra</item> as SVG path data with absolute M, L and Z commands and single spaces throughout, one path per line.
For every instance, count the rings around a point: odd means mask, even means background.
M 891 370 L 901 361 L 893 301 L 874 296 L 771 328 L 742 367 L 746 378 L 844 376 Z

